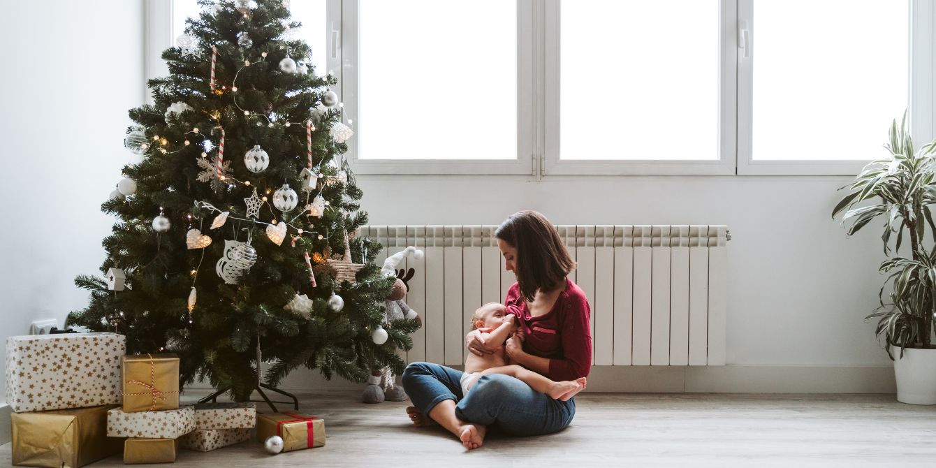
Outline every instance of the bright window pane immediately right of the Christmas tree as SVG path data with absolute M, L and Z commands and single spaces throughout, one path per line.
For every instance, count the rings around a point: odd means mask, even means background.
M 360 0 L 358 157 L 516 159 L 517 3 Z

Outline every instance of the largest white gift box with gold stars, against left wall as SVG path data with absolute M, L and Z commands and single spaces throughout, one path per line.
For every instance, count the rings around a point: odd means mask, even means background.
M 17 413 L 121 402 L 116 333 L 62 333 L 7 338 L 7 403 Z

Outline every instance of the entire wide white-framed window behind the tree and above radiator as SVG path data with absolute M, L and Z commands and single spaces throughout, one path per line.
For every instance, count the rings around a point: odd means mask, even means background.
M 147 2 L 148 77 L 195 4 Z M 904 110 L 936 135 L 929 0 L 292 4 L 358 173 L 854 175 Z

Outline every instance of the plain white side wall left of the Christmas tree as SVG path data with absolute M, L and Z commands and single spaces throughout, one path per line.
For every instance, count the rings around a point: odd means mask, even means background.
M 113 219 L 100 204 L 127 161 L 127 110 L 144 96 L 142 26 L 143 0 L 9 2 L 0 15 L 4 344 L 86 303 L 73 280 L 104 260 Z M 0 405 L 6 394 L 0 376 Z

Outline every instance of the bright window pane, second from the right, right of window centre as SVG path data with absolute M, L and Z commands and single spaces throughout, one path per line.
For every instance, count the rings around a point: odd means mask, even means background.
M 561 159 L 719 158 L 718 0 L 561 8 Z

